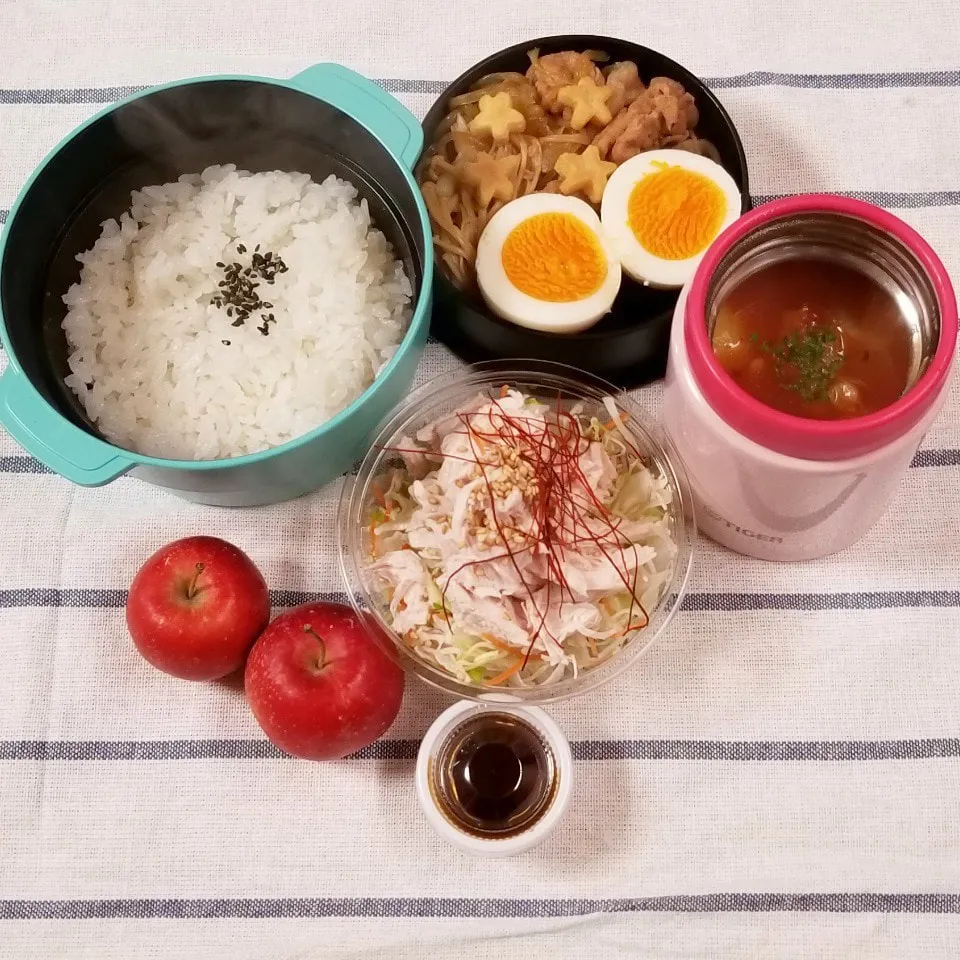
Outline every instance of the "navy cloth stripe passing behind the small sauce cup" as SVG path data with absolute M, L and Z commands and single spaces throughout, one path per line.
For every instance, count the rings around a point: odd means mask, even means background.
M 416 759 L 418 740 L 378 740 L 352 760 Z M 960 738 L 921 740 L 574 740 L 575 760 L 867 762 L 960 757 Z M 0 740 L 0 761 L 290 760 L 267 740 Z

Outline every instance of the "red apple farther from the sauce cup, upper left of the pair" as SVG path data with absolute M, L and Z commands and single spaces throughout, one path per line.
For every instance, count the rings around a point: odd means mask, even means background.
M 137 649 L 184 680 L 233 673 L 269 621 L 260 571 L 216 537 L 187 537 L 158 550 L 127 597 L 127 627 Z

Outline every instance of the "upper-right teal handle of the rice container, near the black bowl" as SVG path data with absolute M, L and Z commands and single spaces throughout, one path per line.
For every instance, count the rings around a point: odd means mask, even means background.
M 290 81 L 363 124 L 408 169 L 423 149 L 423 129 L 396 97 L 338 63 L 318 63 Z

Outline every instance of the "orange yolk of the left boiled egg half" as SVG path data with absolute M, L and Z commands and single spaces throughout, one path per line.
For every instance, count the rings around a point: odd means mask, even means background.
M 518 223 L 503 242 L 500 260 L 514 287 L 550 303 L 583 300 L 607 277 L 596 235 L 570 213 L 538 213 Z

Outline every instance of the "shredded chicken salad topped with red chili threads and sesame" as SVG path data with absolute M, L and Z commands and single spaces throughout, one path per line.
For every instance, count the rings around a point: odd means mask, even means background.
M 676 555 L 670 488 L 615 420 L 507 390 L 403 438 L 371 570 L 421 656 L 470 682 L 547 682 L 645 625 Z

